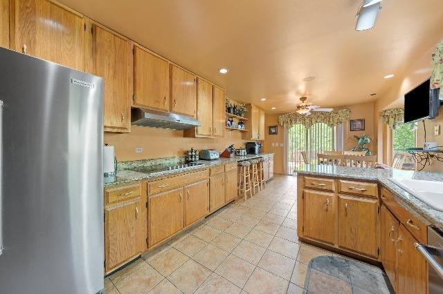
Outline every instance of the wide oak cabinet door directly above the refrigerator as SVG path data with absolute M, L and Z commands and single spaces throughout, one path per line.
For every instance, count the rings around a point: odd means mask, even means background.
M 85 22 L 81 14 L 46 0 L 15 0 L 11 11 L 15 11 L 12 49 L 84 70 Z

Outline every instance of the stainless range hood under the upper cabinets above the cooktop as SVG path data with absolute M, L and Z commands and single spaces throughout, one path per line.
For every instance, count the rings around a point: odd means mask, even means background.
M 150 126 L 172 130 L 186 130 L 201 126 L 201 123 L 194 117 L 145 108 L 132 108 L 131 124 L 133 126 Z

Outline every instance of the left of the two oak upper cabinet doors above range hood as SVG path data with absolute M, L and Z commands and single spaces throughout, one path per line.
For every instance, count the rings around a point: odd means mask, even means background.
M 134 105 L 161 111 L 170 109 L 168 61 L 134 47 Z

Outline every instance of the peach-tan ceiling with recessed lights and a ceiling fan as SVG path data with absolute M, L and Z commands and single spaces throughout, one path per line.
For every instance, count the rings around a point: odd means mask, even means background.
M 383 0 L 364 32 L 354 30 L 358 0 L 61 1 L 268 113 L 301 95 L 323 107 L 376 99 L 392 83 L 384 75 L 443 39 L 442 0 Z

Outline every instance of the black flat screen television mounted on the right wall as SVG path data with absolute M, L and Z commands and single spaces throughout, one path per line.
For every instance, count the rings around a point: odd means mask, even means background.
M 404 95 L 404 122 L 422 121 L 438 116 L 439 89 L 431 89 L 428 79 Z

